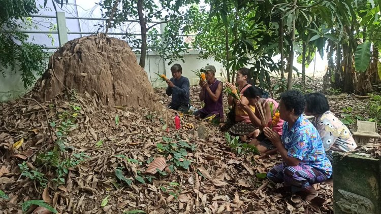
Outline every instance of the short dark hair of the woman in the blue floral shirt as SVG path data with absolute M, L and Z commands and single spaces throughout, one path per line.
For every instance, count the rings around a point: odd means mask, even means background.
M 280 100 L 288 111 L 294 110 L 294 115 L 301 115 L 306 99 L 302 92 L 290 90 L 280 94 Z

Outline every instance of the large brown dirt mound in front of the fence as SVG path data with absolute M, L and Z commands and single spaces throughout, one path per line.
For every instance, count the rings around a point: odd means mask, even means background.
M 130 46 L 102 33 L 69 41 L 56 51 L 34 95 L 47 101 L 66 89 L 97 95 L 110 106 L 154 106 L 152 85 Z

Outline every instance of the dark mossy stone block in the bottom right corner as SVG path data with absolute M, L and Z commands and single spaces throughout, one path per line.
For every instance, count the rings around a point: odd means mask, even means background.
M 333 153 L 334 213 L 381 213 L 381 160 Z

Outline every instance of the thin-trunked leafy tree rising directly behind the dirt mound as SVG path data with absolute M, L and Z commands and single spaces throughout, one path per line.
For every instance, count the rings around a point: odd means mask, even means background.
M 199 0 L 158 2 L 153 0 L 105 0 L 100 5 L 104 11 L 103 17 L 110 19 L 107 24 L 110 27 L 121 28 L 128 20 L 139 22 L 141 38 L 134 37 L 131 32 L 126 32 L 126 37 L 129 37 L 130 43 L 140 47 L 139 65 L 144 68 L 148 50 L 147 41 L 153 41 L 154 44 L 162 41 L 158 48 L 170 61 L 183 58 L 180 53 L 186 52 L 189 46 L 183 42 L 180 32 L 182 32 L 183 23 L 189 20 L 184 19 L 187 12 L 180 11 L 186 6 L 198 3 Z M 163 33 L 164 37 L 157 39 L 158 31 L 154 27 L 161 23 L 167 23 L 167 27 Z M 151 38 L 149 38 L 150 31 L 153 34 Z

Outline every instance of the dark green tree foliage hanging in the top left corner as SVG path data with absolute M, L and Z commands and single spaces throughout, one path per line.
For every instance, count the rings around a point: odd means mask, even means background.
M 28 88 L 45 69 L 46 53 L 43 46 L 28 43 L 28 35 L 18 32 L 30 25 L 26 18 L 36 14 L 38 9 L 34 0 L 3 0 L 0 7 L 0 72 L 14 73 L 21 70 L 24 88 Z

